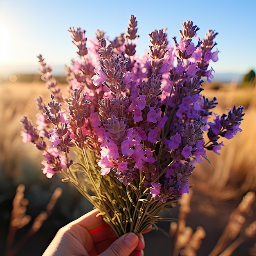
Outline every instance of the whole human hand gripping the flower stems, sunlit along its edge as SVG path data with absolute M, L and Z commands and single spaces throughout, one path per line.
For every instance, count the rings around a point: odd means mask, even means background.
M 142 235 L 124 234 L 117 238 L 97 209 L 62 227 L 43 256 L 143 256 Z

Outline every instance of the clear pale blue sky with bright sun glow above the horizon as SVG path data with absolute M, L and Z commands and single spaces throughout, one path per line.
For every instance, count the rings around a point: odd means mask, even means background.
M 148 34 L 166 27 L 168 39 L 179 38 L 185 20 L 208 29 L 216 37 L 219 61 L 211 63 L 216 73 L 242 73 L 256 69 L 256 1 L 116 1 L 116 0 L 0 0 L 0 76 L 15 72 L 37 72 L 36 56 L 42 54 L 52 67 L 70 64 L 77 58 L 69 27 L 86 30 L 87 38 L 96 29 L 110 39 L 126 30 L 130 15 L 136 15 L 139 40 L 137 53 L 148 49 Z

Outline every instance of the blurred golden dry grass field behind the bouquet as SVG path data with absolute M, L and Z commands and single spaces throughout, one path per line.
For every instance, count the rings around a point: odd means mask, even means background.
M 65 86 L 63 83 L 64 88 Z M 186 225 L 193 231 L 198 226 L 202 226 L 206 231 L 198 256 L 209 255 L 227 224 L 230 213 L 238 206 L 243 195 L 248 191 L 256 191 L 255 86 L 239 88 L 236 83 L 215 83 L 206 84 L 205 87 L 204 95 L 209 99 L 213 96 L 218 99 L 219 104 L 214 112 L 222 115 L 234 104 L 241 104 L 246 107 L 246 114 L 240 126 L 243 132 L 239 132 L 230 141 L 223 139 L 225 147 L 220 151 L 220 156 L 208 152 L 211 164 L 204 161 L 198 164 L 193 173 L 190 182 L 193 185 L 191 210 L 187 215 Z M 42 94 L 45 101 L 50 100 L 49 92 L 45 89 L 44 83 L 39 81 L 38 76 L 30 77 L 29 82 L 0 82 L 0 255 L 4 255 L 12 202 L 19 184 L 25 185 L 25 198 L 29 200 L 27 214 L 32 220 L 45 210 L 54 189 L 61 187 L 63 194 L 41 229 L 27 240 L 16 255 L 31 255 L 31 251 L 33 256 L 41 255 L 60 227 L 92 209 L 76 189 L 68 183 L 61 182 L 59 175 L 54 175 L 48 180 L 41 171 L 40 162 L 43 158 L 39 150 L 29 143 L 22 143 L 19 119 L 26 114 L 35 121 L 34 99 L 38 94 Z M 178 214 L 179 206 L 176 206 L 171 211 L 171 217 L 177 218 Z M 245 218 L 246 225 L 256 220 L 255 202 Z M 15 243 L 24 236 L 30 226 L 31 223 L 18 230 Z M 169 224 L 160 223 L 159 226 L 168 232 Z M 159 231 L 152 231 L 144 237 L 146 256 L 171 255 L 172 238 L 164 236 Z M 255 236 L 247 239 L 232 255 L 256 255 L 255 250 L 250 250 L 255 242 Z

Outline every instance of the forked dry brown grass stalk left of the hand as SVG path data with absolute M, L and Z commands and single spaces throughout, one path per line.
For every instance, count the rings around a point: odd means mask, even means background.
M 24 198 L 25 186 L 23 184 L 18 185 L 16 190 L 16 195 L 13 199 L 13 209 L 11 211 L 11 221 L 9 225 L 9 232 L 7 235 L 7 241 L 5 246 L 5 256 L 13 256 L 15 255 L 22 245 L 33 236 L 39 229 L 42 227 L 45 220 L 52 213 L 52 209 L 56 204 L 56 201 L 62 194 L 61 188 L 56 188 L 54 193 L 52 194 L 51 200 L 47 204 L 46 211 L 42 211 L 39 215 L 34 219 L 31 228 L 29 231 L 22 236 L 22 238 L 13 245 L 13 240 L 15 238 L 15 234 L 18 229 L 21 229 L 25 225 L 27 225 L 31 221 L 31 216 L 26 215 L 28 200 Z

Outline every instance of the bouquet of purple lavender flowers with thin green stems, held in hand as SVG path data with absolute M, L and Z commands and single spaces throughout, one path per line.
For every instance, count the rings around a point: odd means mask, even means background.
M 213 78 L 209 61 L 218 60 L 218 33 L 209 30 L 200 40 L 192 21 L 182 27 L 173 47 L 164 29 L 152 31 L 141 59 L 133 15 L 113 41 L 103 31 L 87 40 L 83 29 L 70 28 L 81 58 L 66 68 L 69 95 L 38 56 L 52 100 L 36 99 L 36 126 L 21 117 L 23 141 L 43 151 L 43 173 L 62 173 L 117 236 L 171 220 L 159 213 L 189 193 L 192 164 L 207 159 L 206 149 L 219 154 L 220 137 L 241 131 L 243 106 L 220 117 L 212 112 L 216 98 L 202 95 L 203 81 Z

